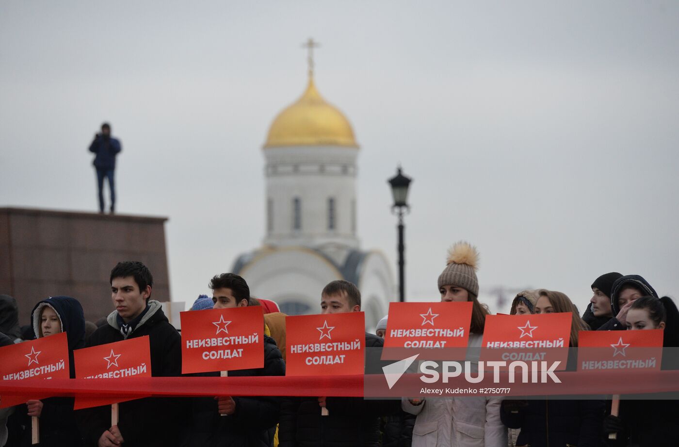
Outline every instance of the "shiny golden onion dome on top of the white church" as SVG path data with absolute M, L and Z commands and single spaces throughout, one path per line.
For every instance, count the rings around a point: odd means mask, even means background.
M 269 128 L 264 148 L 282 146 L 359 147 L 349 120 L 320 96 L 312 76 L 304 94 L 278 113 Z

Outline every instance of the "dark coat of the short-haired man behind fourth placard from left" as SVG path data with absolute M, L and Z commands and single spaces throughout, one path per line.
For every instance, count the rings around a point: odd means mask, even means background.
M 366 348 L 381 348 L 382 338 L 365 334 Z M 400 401 L 363 397 L 327 397 L 329 416 L 320 415 L 317 397 L 283 401 L 278 427 L 279 447 L 378 447 L 380 416 L 396 414 Z

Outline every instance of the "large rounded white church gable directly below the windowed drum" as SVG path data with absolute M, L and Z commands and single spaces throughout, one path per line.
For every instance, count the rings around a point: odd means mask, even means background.
M 308 314 L 320 313 L 320 292 L 341 274 L 322 256 L 304 248 L 277 249 L 255 257 L 240 275 L 251 296 L 274 300 L 285 312 L 286 304 L 308 306 Z

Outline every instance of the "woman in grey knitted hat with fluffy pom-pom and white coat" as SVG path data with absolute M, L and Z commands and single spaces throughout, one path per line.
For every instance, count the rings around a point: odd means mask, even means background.
M 479 280 L 476 276 L 479 253 L 466 242 L 458 242 L 448 251 L 447 265 L 439 275 L 442 302 L 470 301 L 472 305 L 469 347 L 479 348 L 488 308 L 479 303 Z M 471 350 L 467 360 L 475 364 L 478 350 Z M 437 399 L 403 399 L 403 410 L 416 414 L 413 447 L 507 447 L 507 428 L 500 421 L 499 398 L 447 397 Z

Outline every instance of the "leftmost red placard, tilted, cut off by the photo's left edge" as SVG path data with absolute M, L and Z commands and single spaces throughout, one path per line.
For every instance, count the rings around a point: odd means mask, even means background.
M 26 378 L 69 378 L 69 342 L 66 332 L 0 348 L 0 377 L 3 380 Z M 23 404 L 35 396 L 3 396 L 0 408 Z

